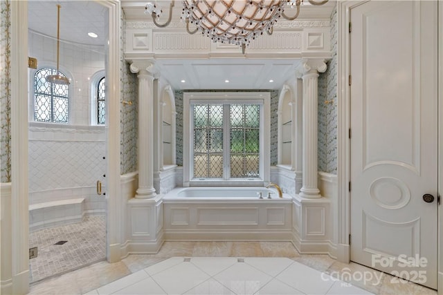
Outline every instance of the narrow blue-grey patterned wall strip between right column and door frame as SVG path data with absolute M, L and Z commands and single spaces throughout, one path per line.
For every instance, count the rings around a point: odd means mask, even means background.
M 318 171 L 337 173 L 337 10 L 331 15 L 332 59 L 318 78 Z

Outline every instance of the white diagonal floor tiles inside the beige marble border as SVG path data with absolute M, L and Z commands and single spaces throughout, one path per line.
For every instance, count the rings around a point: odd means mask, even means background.
M 173 257 L 88 294 L 371 294 L 289 258 Z

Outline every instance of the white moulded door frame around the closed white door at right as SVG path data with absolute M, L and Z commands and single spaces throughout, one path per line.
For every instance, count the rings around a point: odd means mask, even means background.
M 350 262 L 350 10 L 367 1 L 337 1 L 337 95 L 338 99 L 338 133 L 337 133 L 337 178 L 338 178 L 338 245 L 337 259 L 341 262 Z M 438 1 L 438 25 L 443 28 L 443 2 Z M 443 196 L 443 30 L 438 34 L 438 183 L 439 196 Z M 437 209 L 437 289 L 443 294 L 443 216 L 442 205 Z

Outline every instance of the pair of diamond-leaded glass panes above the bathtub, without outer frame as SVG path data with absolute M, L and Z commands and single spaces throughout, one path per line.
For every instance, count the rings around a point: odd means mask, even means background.
M 260 178 L 260 104 L 193 104 L 192 123 L 194 178 Z

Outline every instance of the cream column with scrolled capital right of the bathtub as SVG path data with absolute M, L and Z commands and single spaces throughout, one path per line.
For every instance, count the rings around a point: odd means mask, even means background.
M 317 168 L 317 105 L 318 73 L 325 72 L 327 66 L 323 59 L 303 59 L 298 67 L 298 77 L 303 82 L 303 116 L 302 116 L 302 198 L 321 198 L 318 189 Z

